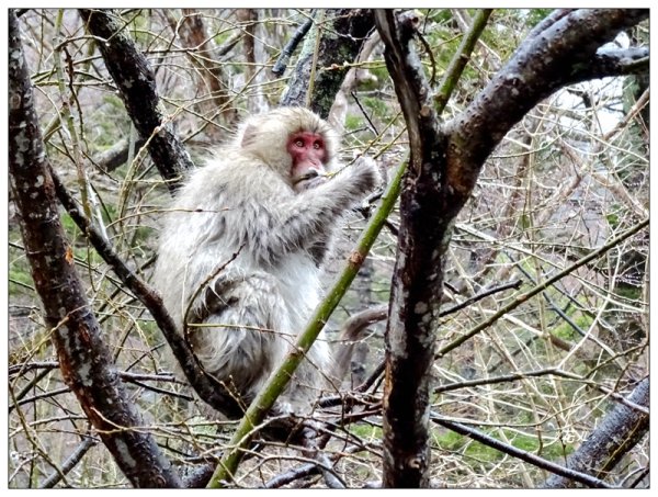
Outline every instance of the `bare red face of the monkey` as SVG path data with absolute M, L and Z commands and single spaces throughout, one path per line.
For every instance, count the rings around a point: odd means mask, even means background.
M 287 151 L 293 158 L 291 178 L 295 191 L 307 190 L 317 184 L 325 174 L 325 163 L 328 159 L 325 139 L 311 132 L 298 132 L 291 136 Z

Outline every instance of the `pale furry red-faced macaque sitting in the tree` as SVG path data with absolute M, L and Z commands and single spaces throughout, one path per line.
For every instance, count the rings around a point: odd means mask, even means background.
M 205 371 L 246 404 L 318 304 L 334 227 L 378 182 L 366 158 L 330 177 L 337 147 L 305 109 L 253 116 L 192 173 L 164 217 L 155 285 Z M 279 407 L 307 411 L 331 371 L 320 336 Z

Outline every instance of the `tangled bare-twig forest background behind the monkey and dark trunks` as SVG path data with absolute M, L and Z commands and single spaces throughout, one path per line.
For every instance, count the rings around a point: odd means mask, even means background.
M 345 161 L 372 156 L 392 181 L 410 140 L 372 20 L 356 56 L 345 60 L 340 50 L 318 50 L 317 41 L 332 36 L 336 16 L 347 11 L 125 9 L 113 15 L 122 35 L 146 56 L 163 122 L 194 165 L 228 139 L 243 116 L 297 103 L 314 108 L 342 134 Z M 49 163 L 112 250 L 148 282 L 170 193 L 138 117 L 126 112 L 99 52 L 103 41 L 86 30 L 77 10 L 16 13 Z M 433 9 L 415 15 L 420 35 L 413 44 L 435 88 L 478 13 Z M 549 15 L 549 10 L 490 13 L 441 120 L 462 114 Z M 310 29 L 305 38 L 283 57 L 305 25 Z M 646 47 L 648 39 L 645 20 L 621 30 L 602 49 Z M 648 61 L 643 65 L 648 50 L 645 55 L 625 75 L 564 86 L 541 99 L 489 155 L 454 223 L 430 372 L 432 486 L 560 486 L 544 463 L 566 467 L 615 413 L 621 426 L 635 423 L 632 440 L 619 441 L 611 464 L 594 471 L 594 461 L 581 470 L 611 486 L 649 484 L 648 389 L 637 391 L 649 375 L 649 234 L 645 226 L 624 236 L 648 219 Z M 342 77 L 327 90 L 313 71 L 330 72 L 331 57 Z M 321 64 L 311 65 L 305 100 L 296 93 L 297 80 L 309 59 Z M 144 102 L 145 110 L 150 105 Z M 140 108 L 131 112 L 139 114 Z M 14 197 L 12 190 L 9 486 L 131 486 L 64 381 Z M 372 199 L 345 223 L 327 264 L 327 285 L 376 204 Z M 236 421 L 207 416 L 188 383 L 162 362 L 168 344 L 144 303 L 64 207 L 59 216 L 71 248 L 67 258 L 83 282 L 128 399 L 143 416 L 139 430 L 182 475 L 216 464 Z M 341 403 L 318 410 L 331 426 L 321 464 L 292 441 L 262 439 L 231 486 L 360 488 L 382 481 L 382 364 L 399 226 L 396 207 L 327 327 L 336 340 L 350 318 L 371 313 L 343 391 L 327 394 Z M 616 443 L 614 434 L 605 437 Z

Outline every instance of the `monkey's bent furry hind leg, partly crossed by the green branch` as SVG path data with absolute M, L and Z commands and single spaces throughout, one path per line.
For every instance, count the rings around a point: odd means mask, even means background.
M 219 280 L 205 292 L 195 313 L 207 327 L 192 329 L 194 351 L 204 369 L 249 403 L 264 386 L 297 339 L 276 279 L 268 273 Z M 303 326 L 294 325 L 299 329 Z M 324 338 L 324 337 L 320 337 Z M 329 346 L 314 344 L 277 403 L 283 413 L 307 414 L 331 370 Z

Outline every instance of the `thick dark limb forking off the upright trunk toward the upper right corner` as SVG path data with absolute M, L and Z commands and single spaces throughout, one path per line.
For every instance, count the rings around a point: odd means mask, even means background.
M 533 31 L 468 109 L 446 126 L 451 203 L 466 202 L 489 154 L 542 99 L 567 84 L 624 74 L 627 63 L 598 55 L 598 50 L 621 30 L 647 16 L 648 10 L 559 11 L 543 31 Z

